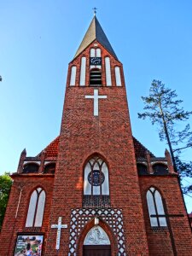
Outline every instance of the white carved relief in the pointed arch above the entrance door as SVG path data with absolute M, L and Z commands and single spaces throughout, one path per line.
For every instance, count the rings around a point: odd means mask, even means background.
M 98 225 L 93 227 L 84 240 L 84 245 L 109 245 L 108 235 Z

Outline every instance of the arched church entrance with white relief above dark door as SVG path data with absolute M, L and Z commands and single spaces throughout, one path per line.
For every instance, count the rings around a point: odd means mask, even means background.
M 84 239 L 84 256 L 111 256 L 111 244 L 107 233 L 96 225 Z

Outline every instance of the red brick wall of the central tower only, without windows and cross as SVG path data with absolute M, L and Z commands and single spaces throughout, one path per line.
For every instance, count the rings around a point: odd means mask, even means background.
M 102 77 L 105 84 L 103 60 L 108 52 L 102 46 L 101 49 Z M 90 47 L 69 65 L 71 67 L 75 64 L 78 67 L 77 83 L 80 58 L 83 55 L 87 57 L 88 70 Z M 121 67 L 121 64 L 112 56 L 111 64 L 113 76 L 113 67 Z M 93 95 L 94 88 L 69 87 L 69 77 L 61 122 L 50 223 L 55 224 L 58 217 L 63 216 L 63 223 L 70 226 L 71 209 L 82 207 L 84 161 L 90 154 L 99 153 L 108 162 L 112 207 L 122 208 L 123 211 L 127 253 L 148 255 L 124 79 L 122 78 L 122 87 L 114 86 L 114 80 L 111 87 L 99 87 L 99 95 L 106 95 L 108 99 L 99 101 L 99 116 L 94 117 L 93 100 L 84 98 L 85 95 Z M 89 84 L 89 72 L 86 73 L 86 81 Z M 46 256 L 55 253 L 55 236 L 56 230 L 49 230 Z M 62 230 L 59 255 L 67 255 L 68 239 L 69 229 Z

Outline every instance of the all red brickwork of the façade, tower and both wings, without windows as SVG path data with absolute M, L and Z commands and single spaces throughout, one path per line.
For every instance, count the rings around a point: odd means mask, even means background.
M 13 255 L 17 232 L 31 231 L 25 228 L 26 214 L 32 190 L 38 186 L 42 186 L 46 192 L 43 227 L 38 230 L 45 233 L 44 255 L 56 255 L 57 230 L 51 229 L 50 224 L 57 224 L 59 217 L 62 217 L 62 224 L 67 224 L 68 228 L 61 230 L 61 247 L 57 255 L 68 255 L 71 210 L 83 207 L 84 163 L 91 154 L 96 153 L 101 154 L 108 163 L 111 207 L 122 209 L 123 212 L 126 253 L 128 255 L 148 255 L 149 253 L 150 255 L 172 255 L 168 231 L 155 232 L 150 228 L 146 192 L 153 185 L 160 189 L 161 194 L 166 198 L 168 212 L 184 214 L 184 218 L 172 218 L 171 224 L 177 254 L 190 255 L 191 231 L 177 177 L 138 178 L 123 67 L 101 45 L 104 86 L 99 87 L 99 95 L 106 95 L 108 98 L 99 100 L 98 117 L 93 116 L 93 100 L 84 98 L 85 95 L 93 95 L 94 91 L 93 87 L 88 86 L 90 47 L 69 64 L 55 180 L 54 176 L 45 174 L 13 176 L 15 183 L 11 189 L 3 224 L 0 256 Z M 79 87 L 80 60 L 83 55 L 87 58 L 86 86 Z M 110 87 L 105 86 L 105 56 L 110 56 L 111 59 L 113 86 Z M 70 87 L 70 71 L 73 65 L 77 66 L 76 86 Z M 121 70 L 123 84 L 121 87 L 115 86 L 114 67 L 116 65 Z M 20 195 L 19 186 L 22 186 L 23 190 L 18 218 L 15 220 Z M 82 256 L 84 236 L 92 224 L 90 222 L 81 231 L 82 236 L 79 236 L 77 245 L 78 256 Z M 112 242 L 112 256 L 115 256 L 117 240 L 110 232 L 108 225 L 102 220 L 101 224 Z

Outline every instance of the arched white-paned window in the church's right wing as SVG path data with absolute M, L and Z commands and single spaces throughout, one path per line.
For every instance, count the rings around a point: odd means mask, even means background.
M 147 202 L 151 226 L 166 227 L 166 217 L 162 217 L 165 215 L 165 211 L 160 192 L 153 187 L 148 189 Z

